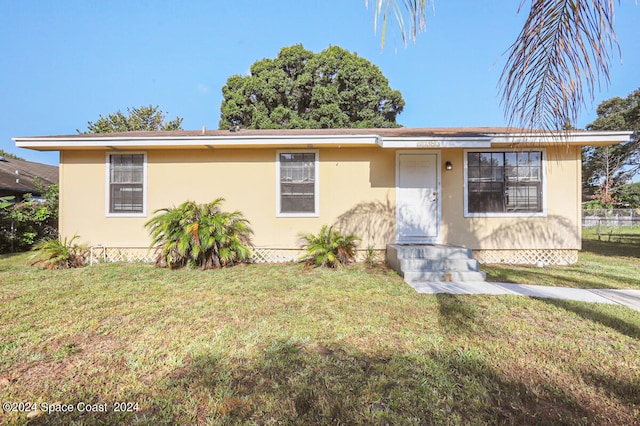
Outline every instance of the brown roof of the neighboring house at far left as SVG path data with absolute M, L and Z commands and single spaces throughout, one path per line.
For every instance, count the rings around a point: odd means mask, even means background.
M 0 191 L 39 193 L 35 178 L 49 186 L 58 183 L 58 167 L 15 158 L 0 157 Z

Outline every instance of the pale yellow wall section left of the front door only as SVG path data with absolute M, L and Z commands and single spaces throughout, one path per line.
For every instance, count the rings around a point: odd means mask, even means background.
M 323 224 L 358 234 L 362 248 L 384 249 L 395 238 L 393 151 L 320 149 L 320 216 L 311 218 L 276 217 L 276 151 L 148 150 L 147 217 L 106 217 L 107 152 L 65 151 L 61 234 L 78 234 L 89 245 L 146 247 L 144 224 L 155 210 L 223 197 L 225 211 L 239 210 L 249 219 L 257 247 L 298 248 L 299 233 L 315 233 Z

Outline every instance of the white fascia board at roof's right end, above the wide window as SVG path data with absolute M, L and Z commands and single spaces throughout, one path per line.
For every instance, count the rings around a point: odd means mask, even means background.
M 617 144 L 626 142 L 633 132 L 586 131 L 554 133 L 513 133 L 493 135 L 491 142 L 496 144 Z

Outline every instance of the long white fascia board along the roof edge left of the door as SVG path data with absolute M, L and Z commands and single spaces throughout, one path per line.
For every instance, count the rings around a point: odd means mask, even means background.
M 59 150 L 64 148 L 154 148 L 154 147 L 243 147 L 243 146 L 295 146 L 340 145 L 377 146 L 377 135 L 309 135 L 309 136 L 136 136 L 136 137 L 17 137 L 19 148 Z

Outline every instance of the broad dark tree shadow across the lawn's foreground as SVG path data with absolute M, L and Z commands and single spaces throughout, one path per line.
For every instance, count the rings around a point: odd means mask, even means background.
M 211 406 L 188 414 L 196 423 L 546 425 L 596 418 L 554 385 L 533 389 L 503 377 L 473 349 L 366 353 L 281 340 L 237 361 L 195 358 L 168 378 L 165 393 L 187 387 L 206 395 Z

